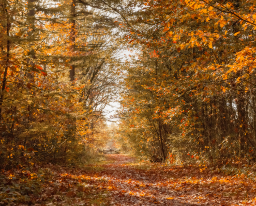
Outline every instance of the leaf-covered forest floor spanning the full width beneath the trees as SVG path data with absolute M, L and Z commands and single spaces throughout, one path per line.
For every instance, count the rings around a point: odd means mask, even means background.
M 106 155 L 105 162 L 81 168 L 49 164 L 26 179 L 15 176 L 4 180 L 0 205 L 256 205 L 256 183 L 249 178 L 125 155 Z

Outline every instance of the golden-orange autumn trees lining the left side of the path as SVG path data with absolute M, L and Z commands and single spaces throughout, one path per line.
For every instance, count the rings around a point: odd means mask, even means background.
M 35 160 L 76 162 L 93 152 L 98 144 L 91 125 L 104 122 L 103 109 L 116 93 L 115 24 L 106 12 L 93 2 L 90 8 L 82 1 L 47 2 L 0 3 L 6 169 Z

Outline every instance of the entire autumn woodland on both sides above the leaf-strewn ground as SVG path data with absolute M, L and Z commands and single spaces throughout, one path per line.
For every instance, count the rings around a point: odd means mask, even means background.
M 141 160 L 256 161 L 255 1 L 0 0 L 0 19 L 5 177 L 109 140 Z

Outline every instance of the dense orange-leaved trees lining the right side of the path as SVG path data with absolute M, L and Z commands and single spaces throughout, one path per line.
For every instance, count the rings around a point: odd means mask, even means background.
M 254 159 L 255 2 L 134 1 L 124 10 L 124 40 L 138 54 L 124 66 L 121 116 L 137 151 Z

